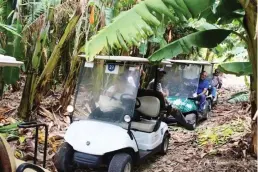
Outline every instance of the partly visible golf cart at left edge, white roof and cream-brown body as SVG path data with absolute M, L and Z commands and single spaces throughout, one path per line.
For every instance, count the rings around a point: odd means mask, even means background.
M 0 69 L 3 67 L 20 67 L 21 61 L 16 61 L 14 57 L 0 54 Z M 0 171 L 1 172 L 49 172 L 40 166 L 21 161 L 14 157 L 10 145 L 0 134 Z

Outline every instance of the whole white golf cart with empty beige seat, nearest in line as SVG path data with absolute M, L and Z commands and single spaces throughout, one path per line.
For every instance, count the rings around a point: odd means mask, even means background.
M 148 60 L 121 56 L 83 63 L 74 105 L 67 107 L 72 124 L 54 157 L 58 171 L 104 166 L 108 172 L 131 172 L 149 155 L 167 153 L 164 98 L 138 90 L 142 64 Z

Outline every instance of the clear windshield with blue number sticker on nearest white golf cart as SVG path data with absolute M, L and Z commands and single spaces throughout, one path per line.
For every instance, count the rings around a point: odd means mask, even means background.
M 105 63 L 104 60 L 85 63 L 81 69 L 73 117 L 109 123 L 123 122 L 125 115 L 132 117 L 139 78 L 138 66 Z

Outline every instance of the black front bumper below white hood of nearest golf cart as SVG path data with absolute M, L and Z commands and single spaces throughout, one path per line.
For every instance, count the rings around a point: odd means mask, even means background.
M 74 152 L 73 161 L 77 167 L 97 168 L 103 164 L 102 156 L 81 152 Z

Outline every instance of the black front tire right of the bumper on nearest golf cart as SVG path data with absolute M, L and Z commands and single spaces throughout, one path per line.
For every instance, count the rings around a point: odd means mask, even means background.
M 110 161 L 108 172 L 132 172 L 132 167 L 132 157 L 127 153 L 118 153 Z

